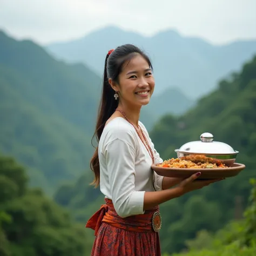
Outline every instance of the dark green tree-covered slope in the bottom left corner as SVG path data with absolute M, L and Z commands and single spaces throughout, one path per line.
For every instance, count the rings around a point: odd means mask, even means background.
M 0 254 L 2 256 L 86 256 L 90 241 L 84 225 L 27 185 L 14 159 L 0 157 Z

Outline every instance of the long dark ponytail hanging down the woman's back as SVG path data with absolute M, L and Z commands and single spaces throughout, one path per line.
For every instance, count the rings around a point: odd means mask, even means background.
M 109 58 L 109 54 L 107 54 L 105 59 L 102 97 L 100 98 L 100 103 L 99 103 L 96 130 L 92 137 L 92 140 L 93 138 L 96 137 L 97 143 L 99 142 L 100 136 L 102 136 L 102 132 L 107 119 L 111 117 L 111 115 L 114 113 L 118 105 L 118 100 L 114 99 L 114 92 L 112 87 L 109 84 L 109 78 L 107 78 L 107 59 L 108 58 Z M 95 179 L 92 181 L 91 185 L 95 185 L 95 187 L 97 187 L 99 185 L 98 146 L 96 147 L 96 150 L 92 156 L 90 167 L 95 174 Z

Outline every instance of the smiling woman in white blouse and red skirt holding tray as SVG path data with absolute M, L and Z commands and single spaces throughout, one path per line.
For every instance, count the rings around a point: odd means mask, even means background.
M 196 181 L 200 172 L 185 180 L 161 177 L 151 169 L 163 160 L 139 114 L 154 91 L 152 70 L 149 57 L 131 44 L 105 59 L 91 169 L 106 204 L 86 224 L 95 230 L 94 256 L 159 256 L 159 204 L 217 181 Z

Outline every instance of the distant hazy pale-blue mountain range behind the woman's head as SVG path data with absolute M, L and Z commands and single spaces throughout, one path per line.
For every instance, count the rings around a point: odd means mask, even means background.
M 107 51 L 126 43 L 136 44 L 149 53 L 157 93 L 174 87 L 188 98 L 200 98 L 211 92 L 221 78 L 238 70 L 256 53 L 256 41 L 215 46 L 200 38 L 181 36 L 173 30 L 144 37 L 113 26 L 76 40 L 52 43 L 45 48 L 57 58 L 86 63 L 102 74 Z

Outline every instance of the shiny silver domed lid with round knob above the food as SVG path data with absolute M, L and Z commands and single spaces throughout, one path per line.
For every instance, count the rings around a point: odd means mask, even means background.
M 201 140 L 196 142 L 188 142 L 180 147 L 176 152 L 196 153 L 196 154 L 237 154 L 233 148 L 223 142 L 214 142 L 213 135 L 205 132 L 200 136 Z

